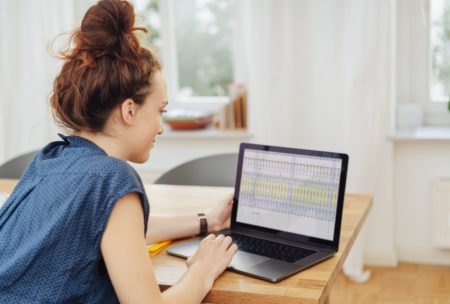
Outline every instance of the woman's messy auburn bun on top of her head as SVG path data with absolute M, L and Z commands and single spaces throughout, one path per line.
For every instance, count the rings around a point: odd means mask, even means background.
M 101 0 L 86 12 L 79 31 L 78 48 L 87 51 L 126 55 L 139 48 L 134 30 L 133 5 L 122 0 Z

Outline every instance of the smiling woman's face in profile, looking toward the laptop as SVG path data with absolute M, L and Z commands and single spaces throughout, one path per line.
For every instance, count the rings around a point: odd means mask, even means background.
M 133 151 L 130 161 L 144 163 L 150 156 L 157 135 L 163 133 L 162 114 L 167 106 L 166 83 L 161 72 L 156 72 L 152 79 L 152 93 L 144 104 L 138 106 L 133 125 Z

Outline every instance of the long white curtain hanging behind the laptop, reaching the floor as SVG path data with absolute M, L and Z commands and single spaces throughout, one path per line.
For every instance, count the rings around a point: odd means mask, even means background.
M 236 3 L 236 77 L 248 85 L 254 141 L 348 153 L 347 192 L 374 195 L 368 241 L 345 266 L 364 280 L 364 253 L 395 252 L 389 0 Z

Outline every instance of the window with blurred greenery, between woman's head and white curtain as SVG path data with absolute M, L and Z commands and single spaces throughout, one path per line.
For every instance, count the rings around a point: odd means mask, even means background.
M 233 82 L 232 0 L 134 0 L 145 39 L 162 59 L 170 104 L 228 101 Z

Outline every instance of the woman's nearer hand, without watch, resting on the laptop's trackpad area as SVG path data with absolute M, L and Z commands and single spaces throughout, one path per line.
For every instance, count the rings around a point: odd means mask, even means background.
M 230 264 L 237 249 L 237 245 L 232 244 L 231 237 L 210 234 L 200 242 L 197 252 L 186 263 L 188 267 L 198 264 L 215 280 Z

